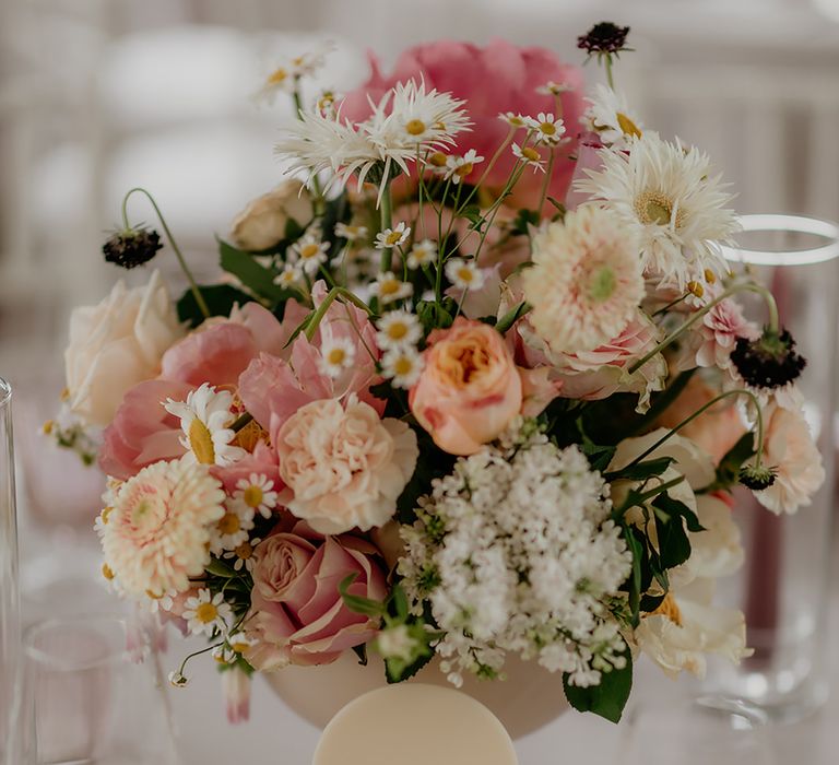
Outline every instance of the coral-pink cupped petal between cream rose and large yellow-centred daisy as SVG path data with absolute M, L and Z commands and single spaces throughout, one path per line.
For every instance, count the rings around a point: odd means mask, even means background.
M 184 401 L 190 390 L 191 385 L 177 380 L 146 380 L 131 388 L 103 434 L 102 470 L 127 480 L 153 462 L 181 457 L 180 422 L 162 402 Z

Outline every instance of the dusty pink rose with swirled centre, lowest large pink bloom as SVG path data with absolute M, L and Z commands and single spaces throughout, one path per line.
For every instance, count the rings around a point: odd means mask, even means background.
M 305 522 L 272 532 L 255 552 L 251 609 L 246 624 L 253 645 L 245 658 L 258 670 L 327 664 L 376 636 L 375 620 L 346 608 L 338 590 L 373 600 L 387 595 L 376 548 L 345 534 L 323 537 Z

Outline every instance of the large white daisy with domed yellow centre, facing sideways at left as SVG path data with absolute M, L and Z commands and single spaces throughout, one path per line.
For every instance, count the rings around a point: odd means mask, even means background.
M 186 401 L 167 399 L 164 408 L 180 419 L 184 431 L 180 443 L 189 450 L 184 458 L 187 461 L 227 466 L 247 454 L 241 447 L 231 445 L 236 437 L 231 429 L 236 415 L 229 391 L 216 390 L 204 382 L 190 391 Z

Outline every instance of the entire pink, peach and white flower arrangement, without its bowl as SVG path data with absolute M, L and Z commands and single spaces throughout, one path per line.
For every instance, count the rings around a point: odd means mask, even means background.
M 641 656 L 749 655 L 713 602 L 731 492 L 806 511 L 805 360 L 722 257 L 710 160 L 614 87 L 628 32 L 579 38 L 588 98 L 506 43 L 420 46 L 343 98 L 304 92 L 322 54 L 280 66 L 295 177 L 233 221 L 224 279 L 197 284 L 161 219 L 182 295 L 154 271 L 74 313 L 51 432 L 109 476 L 103 574 L 210 640 L 232 721 L 255 671 L 348 650 L 454 685 L 515 655 L 615 721 Z M 133 193 L 104 247 L 132 269 L 166 255 Z

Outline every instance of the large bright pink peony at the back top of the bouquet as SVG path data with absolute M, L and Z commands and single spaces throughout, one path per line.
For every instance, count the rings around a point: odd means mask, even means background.
M 533 117 L 540 111 L 556 114 L 554 96 L 536 93 L 536 87 L 548 81 L 570 85 L 571 90 L 562 95 L 562 104 L 567 134 L 572 140 L 559 150 L 548 191 L 554 199 L 565 199 L 574 173 L 574 162 L 568 156 L 575 151 L 578 125 L 584 108 L 582 73 L 579 69 L 562 63 L 545 48 L 519 48 L 501 39 L 492 40 L 483 48 L 453 40 L 418 45 L 399 57 L 390 76 L 381 73 L 373 56 L 370 67 L 370 79 L 344 99 L 342 117 L 365 119 L 371 110 L 368 96 L 378 102 L 398 82 L 423 78 L 428 89 L 436 87 L 466 102 L 465 109 L 473 122 L 472 130 L 457 137 L 453 151 L 462 154 L 474 149 L 486 157 L 486 163 L 508 133 L 508 126 L 498 119 L 499 114 L 512 111 Z M 480 179 L 486 163 L 476 165 L 465 180 L 475 183 Z M 486 188 L 500 192 L 513 164 L 512 152 L 507 150 L 485 179 Z M 525 172 L 516 186 L 511 203 L 535 208 L 542 183 L 541 173 Z

